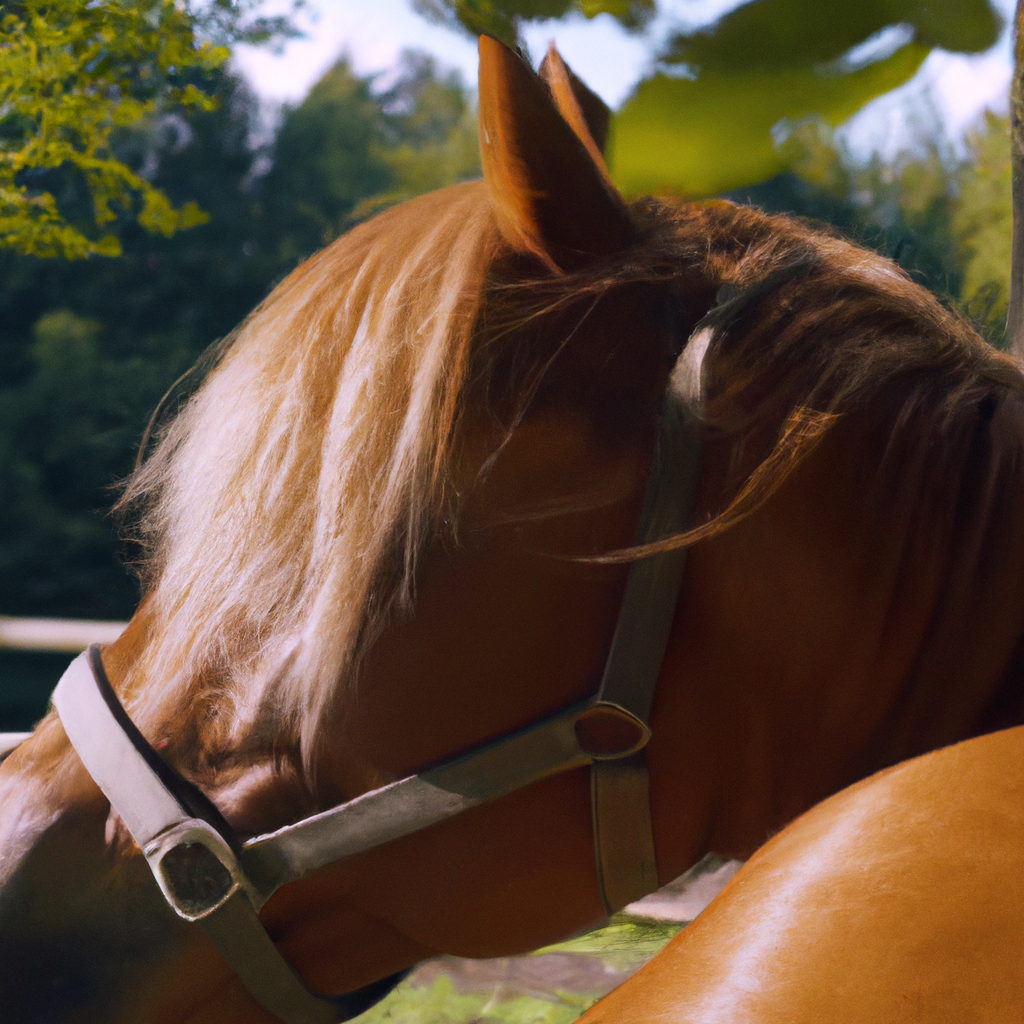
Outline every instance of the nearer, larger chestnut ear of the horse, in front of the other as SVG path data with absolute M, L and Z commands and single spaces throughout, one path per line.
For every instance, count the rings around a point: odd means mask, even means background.
M 577 270 L 633 241 L 600 153 L 588 152 L 532 69 L 487 36 L 480 37 L 480 156 L 499 226 L 518 252 L 555 271 Z

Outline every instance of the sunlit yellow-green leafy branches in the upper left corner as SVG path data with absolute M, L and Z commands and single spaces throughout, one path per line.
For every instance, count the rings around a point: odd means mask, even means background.
M 170 237 L 203 223 L 121 160 L 117 134 L 210 110 L 203 75 L 232 42 L 294 34 L 258 0 L 20 0 L 0 9 L 0 244 L 69 259 L 121 252 L 115 222 Z M 204 38 L 204 33 L 206 38 Z M 194 73 L 199 72 L 197 79 Z M 72 212 L 61 193 L 77 194 Z

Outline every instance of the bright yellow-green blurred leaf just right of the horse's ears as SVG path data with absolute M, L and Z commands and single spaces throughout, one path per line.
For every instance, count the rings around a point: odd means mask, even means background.
M 787 166 L 773 137 L 786 122 L 837 125 L 907 81 L 928 56 L 910 43 L 850 74 L 752 68 L 696 79 L 664 73 L 640 83 L 612 122 L 609 165 L 627 195 L 715 196 Z

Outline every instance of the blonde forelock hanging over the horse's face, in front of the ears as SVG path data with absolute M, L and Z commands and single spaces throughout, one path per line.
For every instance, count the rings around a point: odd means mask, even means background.
M 125 689 L 143 727 L 187 711 L 308 766 L 384 563 L 397 551 L 411 578 L 443 500 L 496 240 L 482 182 L 360 225 L 271 294 L 171 423 L 122 502 L 150 546 Z

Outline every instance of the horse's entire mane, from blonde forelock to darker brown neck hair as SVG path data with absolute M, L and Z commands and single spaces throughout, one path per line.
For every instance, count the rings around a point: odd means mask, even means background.
M 176 720 L 177 763 L 202 761 L 198 748 L 269 749 L 312 770 L 333 695 L 408 600 L 417 551 L 451 507 L 467 389 L 486 391 L 486 367 L 507 371 L 516 331 L 546 312 L 585 316 L 612 288 L 662 283 L 682 345 L 718 290 L 701 415 L 756 458 L 720 514 L 648 550 L 759 508 L 885 382 L 905 391 L 904 418 L 926 392 L 953 408 L 993 382 L 1021 390 L 1009 359 L 882 257 L 731 204 L 646 200 L 633 214 L 628 252 L 523 280 L 521 263 L 501 272 L 509 252 L 482 183 L 457 185 L 342 237 L 241 327 L 121 503 L 139 510 L 148 552 L 146 638 L 124 699 L 151 734 Z M 550 361 L 515 382 L 509 430 Z

